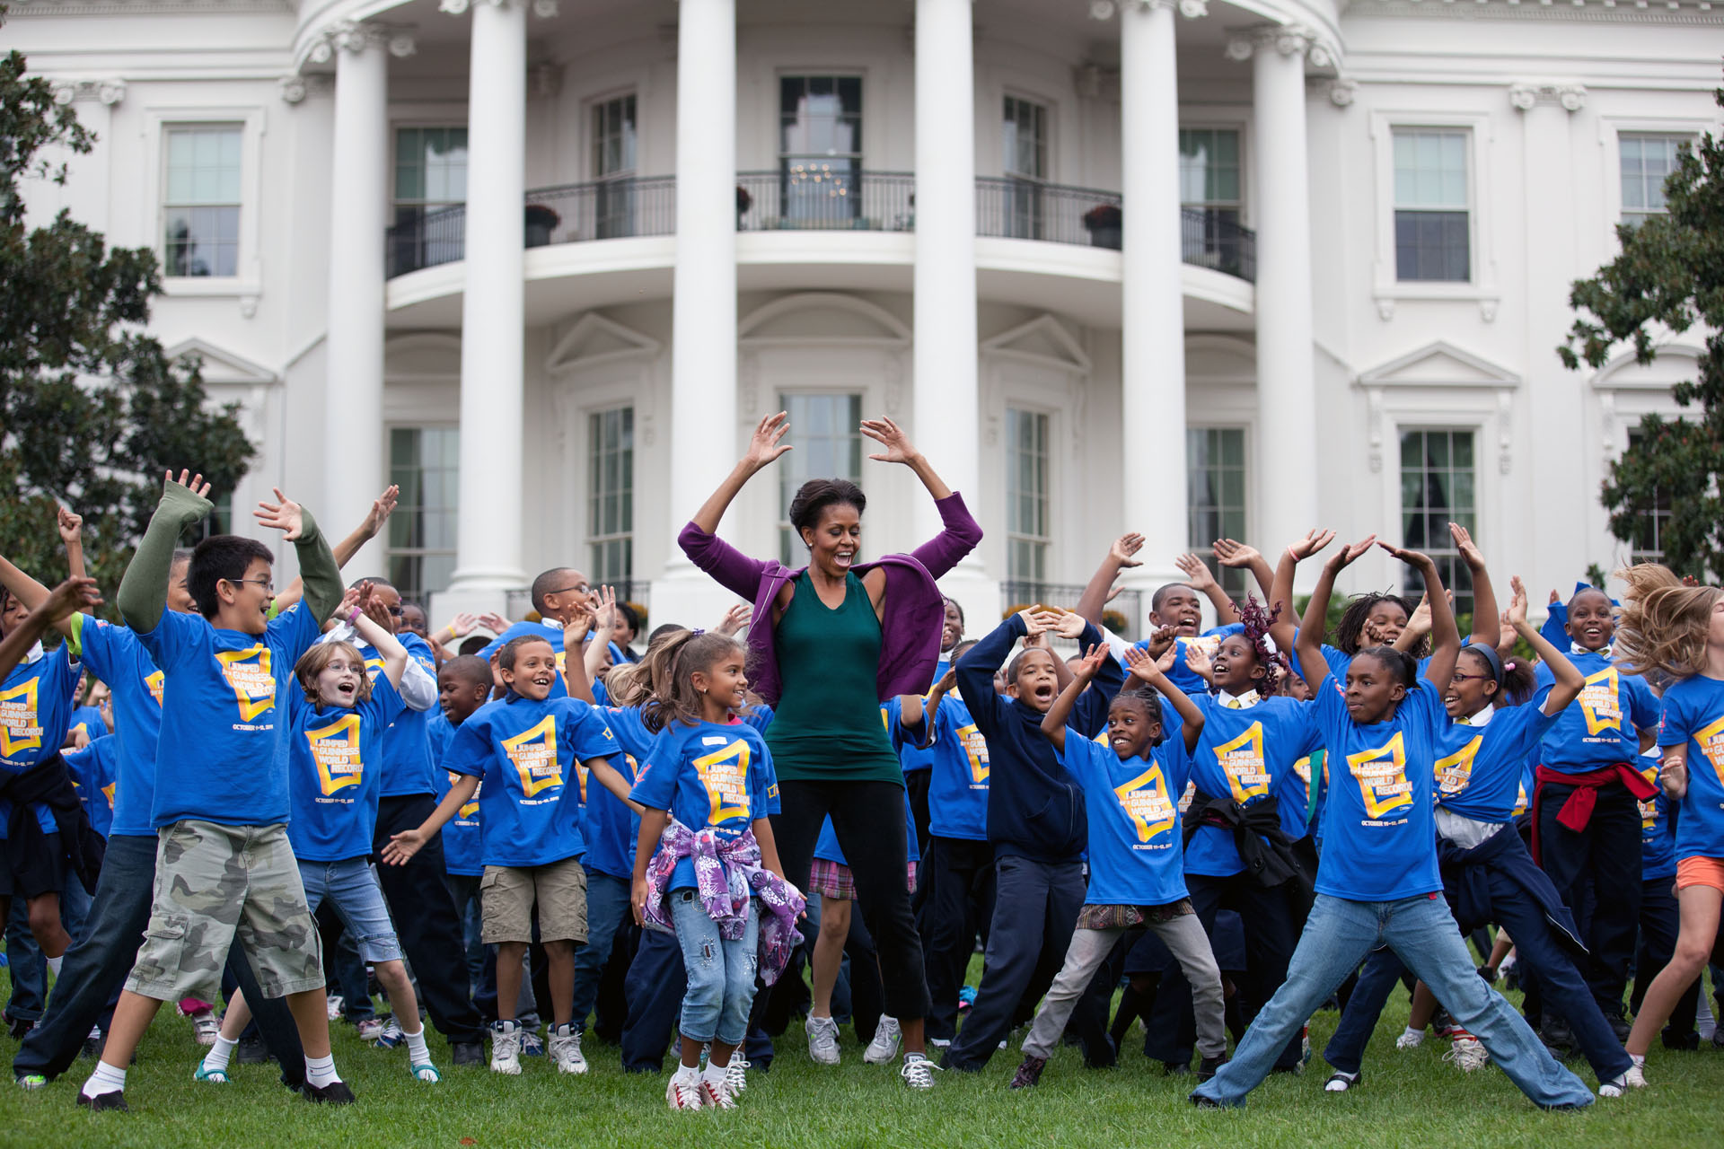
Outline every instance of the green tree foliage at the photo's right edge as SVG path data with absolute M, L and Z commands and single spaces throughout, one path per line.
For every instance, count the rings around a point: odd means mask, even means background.
M 1724 105 L 1724 90 L 1715 93 Z M 1603 505 L 1610 534 L 1634 543 L 1657 501 L 1671 517 L 1660 534 L 1664 562 L 1677 574 L 1724 579 L 1724 143 L 1705 134 L 1684 146 L 1664 184 L 1667 212 L 1640 227 L 1617 226 L 1622 253 L 1591 279 L 1576 281 L 1577 317 L 1557 355 L 1572 370 L 1603 367 L 1631 343 L 1650 363 L 1658 345 L 1707 331 L 1700 377 L 1676 384 L 1676 401 L 1695 417 L 1648 415 L 1643 434 L 1610 467 Z

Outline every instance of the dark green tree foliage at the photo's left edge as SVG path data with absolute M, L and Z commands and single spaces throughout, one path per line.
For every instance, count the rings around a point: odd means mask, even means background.
M 3 17 L 3 9 L 0 9 Z M 60 212 L 26 227 L 31 183 L 95 136 L 17 52 L 0 59 L 0 551 L 43 582 L 66 574 L 55 506 L 84 517 L 90 574 L 112 601 L 162 472 L 200 469 L 231 493 L 252 446 L 234 407 L 210 410 L 198 365 L 147 334 L 155 253 L 109 248 Z

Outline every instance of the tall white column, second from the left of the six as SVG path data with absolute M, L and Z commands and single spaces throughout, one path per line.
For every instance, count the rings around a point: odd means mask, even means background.
M 462 5 L 465 7 L 465 5 Z M 521 560 L 528 14 L 472 5 L 465 293 L 460 305 L 460 527 L 440 610 L 502 610 Z

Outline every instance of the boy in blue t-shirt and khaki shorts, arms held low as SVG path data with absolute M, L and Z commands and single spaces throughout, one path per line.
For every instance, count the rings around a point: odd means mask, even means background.
M 574 947 L 586 942 L 586 842 L 576 768 L 586 767 L 612 794 L 626 796 L 629 787 L 609 761 L 619 753 L 617 739 L 600 711 L 567 694 L 552 698 L 560 675 L 550 643 L 536 636 L 512 639 L 498 651 L 497 665 L 509 693 L 462 722 L 443 756 L 443 768 L 462 780 L 417 830 L 395 834 L 383 860 L 403 865 L 479 794 L 483 937 L 497 946 L 491 1070 L 521 1073 L 515 1003 L 536 908 L 555 1020 L 548 1054 L 559 1071 L 584 1073 L 572 1027 Z

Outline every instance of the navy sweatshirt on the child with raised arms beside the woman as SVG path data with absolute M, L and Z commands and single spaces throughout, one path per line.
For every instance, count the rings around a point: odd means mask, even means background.
M 1083 787 L 1041 734 L 1041 711 L 993 693 L 993 672 L 1024 634 L 1024 620 L 1012 615 L 957 665 L 959 693 L 988 742 L 988 841 L 996 858 L 1076 861 L 1090 844 Z M 1079 649 L 1100 643 L 1102 632 L 1086 625 Z M 1103 660 L 1065 720 L 1072 737 L 1095 737 L 1107 725 L 1109 703 L 1124 682 L 1119 661 Z

